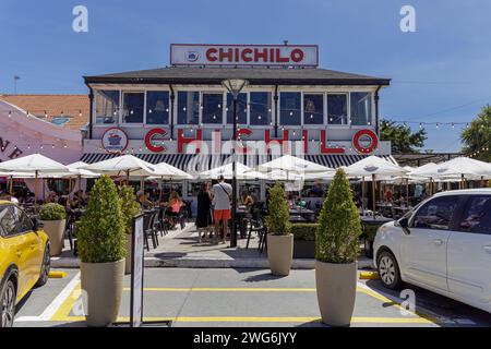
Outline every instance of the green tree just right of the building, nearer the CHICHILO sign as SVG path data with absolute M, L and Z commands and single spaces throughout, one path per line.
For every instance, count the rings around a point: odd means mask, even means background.
M 380 127 L 380 136 L 382 141 L 391 141 L 393 153 L 418 153 L 424 146 L 427 131 L 424 129 L 418 132 L 405 124 L 396 124 L 391 120 L 382 120 Z

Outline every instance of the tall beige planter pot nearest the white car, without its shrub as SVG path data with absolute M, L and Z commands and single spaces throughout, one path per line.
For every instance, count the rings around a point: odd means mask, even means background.
M 315 261 L 315 285 L 322 322 L 349 326 L 357 294 L 358 263 L 333 264 Z

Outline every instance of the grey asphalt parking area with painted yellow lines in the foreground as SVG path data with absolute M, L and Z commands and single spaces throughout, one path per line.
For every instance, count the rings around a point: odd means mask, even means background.
M 14 326 L 85 326 L 77 269 L 50 279 L 17 305 Z M 120 321 L 130 313 L 130 278 Z M 410 288 L 409 305 L 378 280 L 360 280 L 351 326 L 491 326 L 491 314 Z M 411 308 L 410 300 L 416 300 Z M 409 309 L 409 311 L 408 311 Z M 146 268 L 144 317 L 171 326 L 324 326 L 319 322 L 313 270 L 275 277 L 267 269 Z

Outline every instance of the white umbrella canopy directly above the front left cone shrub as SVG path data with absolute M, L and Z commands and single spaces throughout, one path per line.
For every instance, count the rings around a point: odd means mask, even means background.
M 82 166 L 82 169 L 108 176 L 125 174 L 134 177 L 156 176 L 155 166 L 133 155 L 122 155 L 104 161 Z

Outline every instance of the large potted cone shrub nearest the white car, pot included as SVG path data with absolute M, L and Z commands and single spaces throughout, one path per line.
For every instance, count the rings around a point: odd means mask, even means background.
M 338 169 L 315 236 L 315 284 L 322 321 L 348 326 L 355 309 L 361 224 L 345 171 Z

